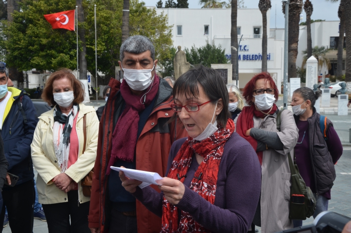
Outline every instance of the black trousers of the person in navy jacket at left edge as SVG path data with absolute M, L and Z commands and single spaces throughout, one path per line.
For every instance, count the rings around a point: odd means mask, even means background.
M 30 180 L 14 187 L 3 189 L 4 205 L 0 214 L 0 226 L 4 223 L 5 206 L 12 233 L 33 232 L 33 211 L 35 201 L 34 181 Z M 3 232 L 3 227 L 0 227 Z

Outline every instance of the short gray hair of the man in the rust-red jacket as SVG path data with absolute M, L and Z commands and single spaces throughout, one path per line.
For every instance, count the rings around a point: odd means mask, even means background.
M 142 35 L 130 36 L 120 47 L 119 60 L 120 62 L 123 61 L 125 52 L 139 54 L 148 50 L 151 52 L 152 60 L 155 60 L 155 47 L 148 37 Z

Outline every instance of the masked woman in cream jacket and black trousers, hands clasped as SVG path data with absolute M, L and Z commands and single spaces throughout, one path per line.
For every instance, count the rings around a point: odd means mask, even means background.
M 95 109 L 82 104 L 84 88 L 69 69 L 50 75 L 42 98 L 54 107 L 39 116 L 31 152 L 49 232 L 89 233 L 90 197 L 83 195 L 81 180 L 96 158 Z

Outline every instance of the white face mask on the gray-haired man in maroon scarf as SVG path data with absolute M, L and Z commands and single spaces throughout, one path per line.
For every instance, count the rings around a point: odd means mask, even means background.
M 135 70 L 135 69 L 124 69 L 123 78 L 128 83 L 128 86 L 136 91 L 143 91 L 147 89 L 154 77 L 151 79 L 151 71 L 155 68 L 155 65 L 152 69 L 147 70 Z

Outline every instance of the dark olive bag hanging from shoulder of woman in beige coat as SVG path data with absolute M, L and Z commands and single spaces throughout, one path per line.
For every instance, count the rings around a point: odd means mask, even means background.
M 280 132 L 281 113 L 277 113 L 277 129 Z M 295 150 L 294 163 L 288 152 L 289 167 L 291 172 L 291 189 L 290 189 L 290 211 L 289 218 L 294 220 L 305 220 L 313 215 L 316 209 L 316 199 L 311 188 L 306 187 L 302 179 L 299 168 L 296 164 Z

